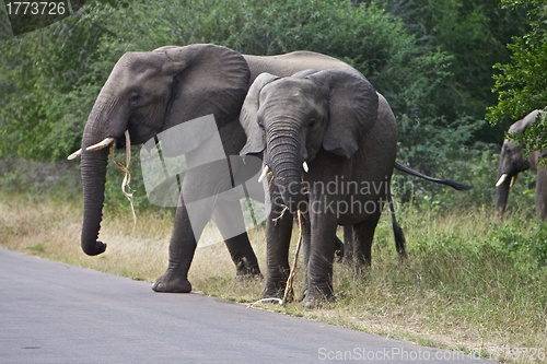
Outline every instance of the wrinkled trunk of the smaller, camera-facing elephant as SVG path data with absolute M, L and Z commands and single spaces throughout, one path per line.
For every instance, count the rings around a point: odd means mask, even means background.
M 294 136 L 294 137 L 293 137 Z M 307 207 L 307 191 L 302 184 L 304 173 L 301 155 L 301 143 L 295 137 L 296 132 L 286 132 L 283 137 L 276 137 L 275 141 L 268 140 L 268 162 L 274 173 L 274 183 L 281 193 L 283 204 L 291 212 L 303 210 Z

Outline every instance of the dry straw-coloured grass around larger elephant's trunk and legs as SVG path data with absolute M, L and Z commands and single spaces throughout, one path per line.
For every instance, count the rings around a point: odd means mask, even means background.
M 79 207 L 53 201 L 34 203 L 24 197 L 0 199 L 2 247 L 149 282 L 166 268 L 172 227 L 173 216 L 165 211 L 138 215 L 136 225 L 129 210 L 125 214 L 106 211 L 100 238 L 108 247 L 103 255 L 89 257 L 80 248 Z M 234 274 L 233 262 L 214 228 L 208 227 L 205 235 L 207 242 L 198 244 L 189 272 L 197 290 L 208 280 Z M 260 246 L 254 247 L 260 257 L 265 256 Z

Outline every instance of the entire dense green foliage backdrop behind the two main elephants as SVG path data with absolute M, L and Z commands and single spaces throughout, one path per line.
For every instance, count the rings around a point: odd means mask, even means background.
M 399 124 L 399 162 L 473 183 L 472 200 L 490 203 L 484 188 L 494 178 L 491 143 L 501 143 L 509 121 L 497 129 L 484 121 L 496 101 L 492 66 L 509 62 L 505 44 L 534 26 L 526 12 L 497 0 L 359 2 L 95 0 L 43 30 L 3 32 L 0 156 L 60 160 L 78 149 L 125 51 L 190 43 L 257 55 L 309 49 L 353 64 L 387 97 Z M 450 192 L 423 186 L 398 193 L 429 203 Z

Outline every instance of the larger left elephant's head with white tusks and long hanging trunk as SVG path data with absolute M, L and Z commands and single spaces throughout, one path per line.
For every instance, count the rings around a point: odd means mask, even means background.
M 218 127 L 235 120 L 249 71 L 237 52 L 214 45 L 127 52 L 116 63 L 85 124 L 81 154 L 84 197 L 82 249 L 98 255 L 107 146 L 129 132 L 143 143 L 181 122 L 213 114 Z M 118 141 L 118 144 L 123 141 Z

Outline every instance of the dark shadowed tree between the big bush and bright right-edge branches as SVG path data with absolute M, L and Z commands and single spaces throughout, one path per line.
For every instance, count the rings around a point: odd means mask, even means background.
M 439 97 L 449 124 L 465 116 L 481 120 L 487 106 L 496 102 L 492 66 L 509 60 L 505 48 L 512 36 L 527 28 L 524 11 L 509 11 L 499 0 L 379 0 L 398 16 L 424 49 L 441 49 L 452 57 L 452 77 Z M 493 132 L 492 132 L 493 131 Z M 475 140 L 498 142 L 502 128 L 482 127 Z

